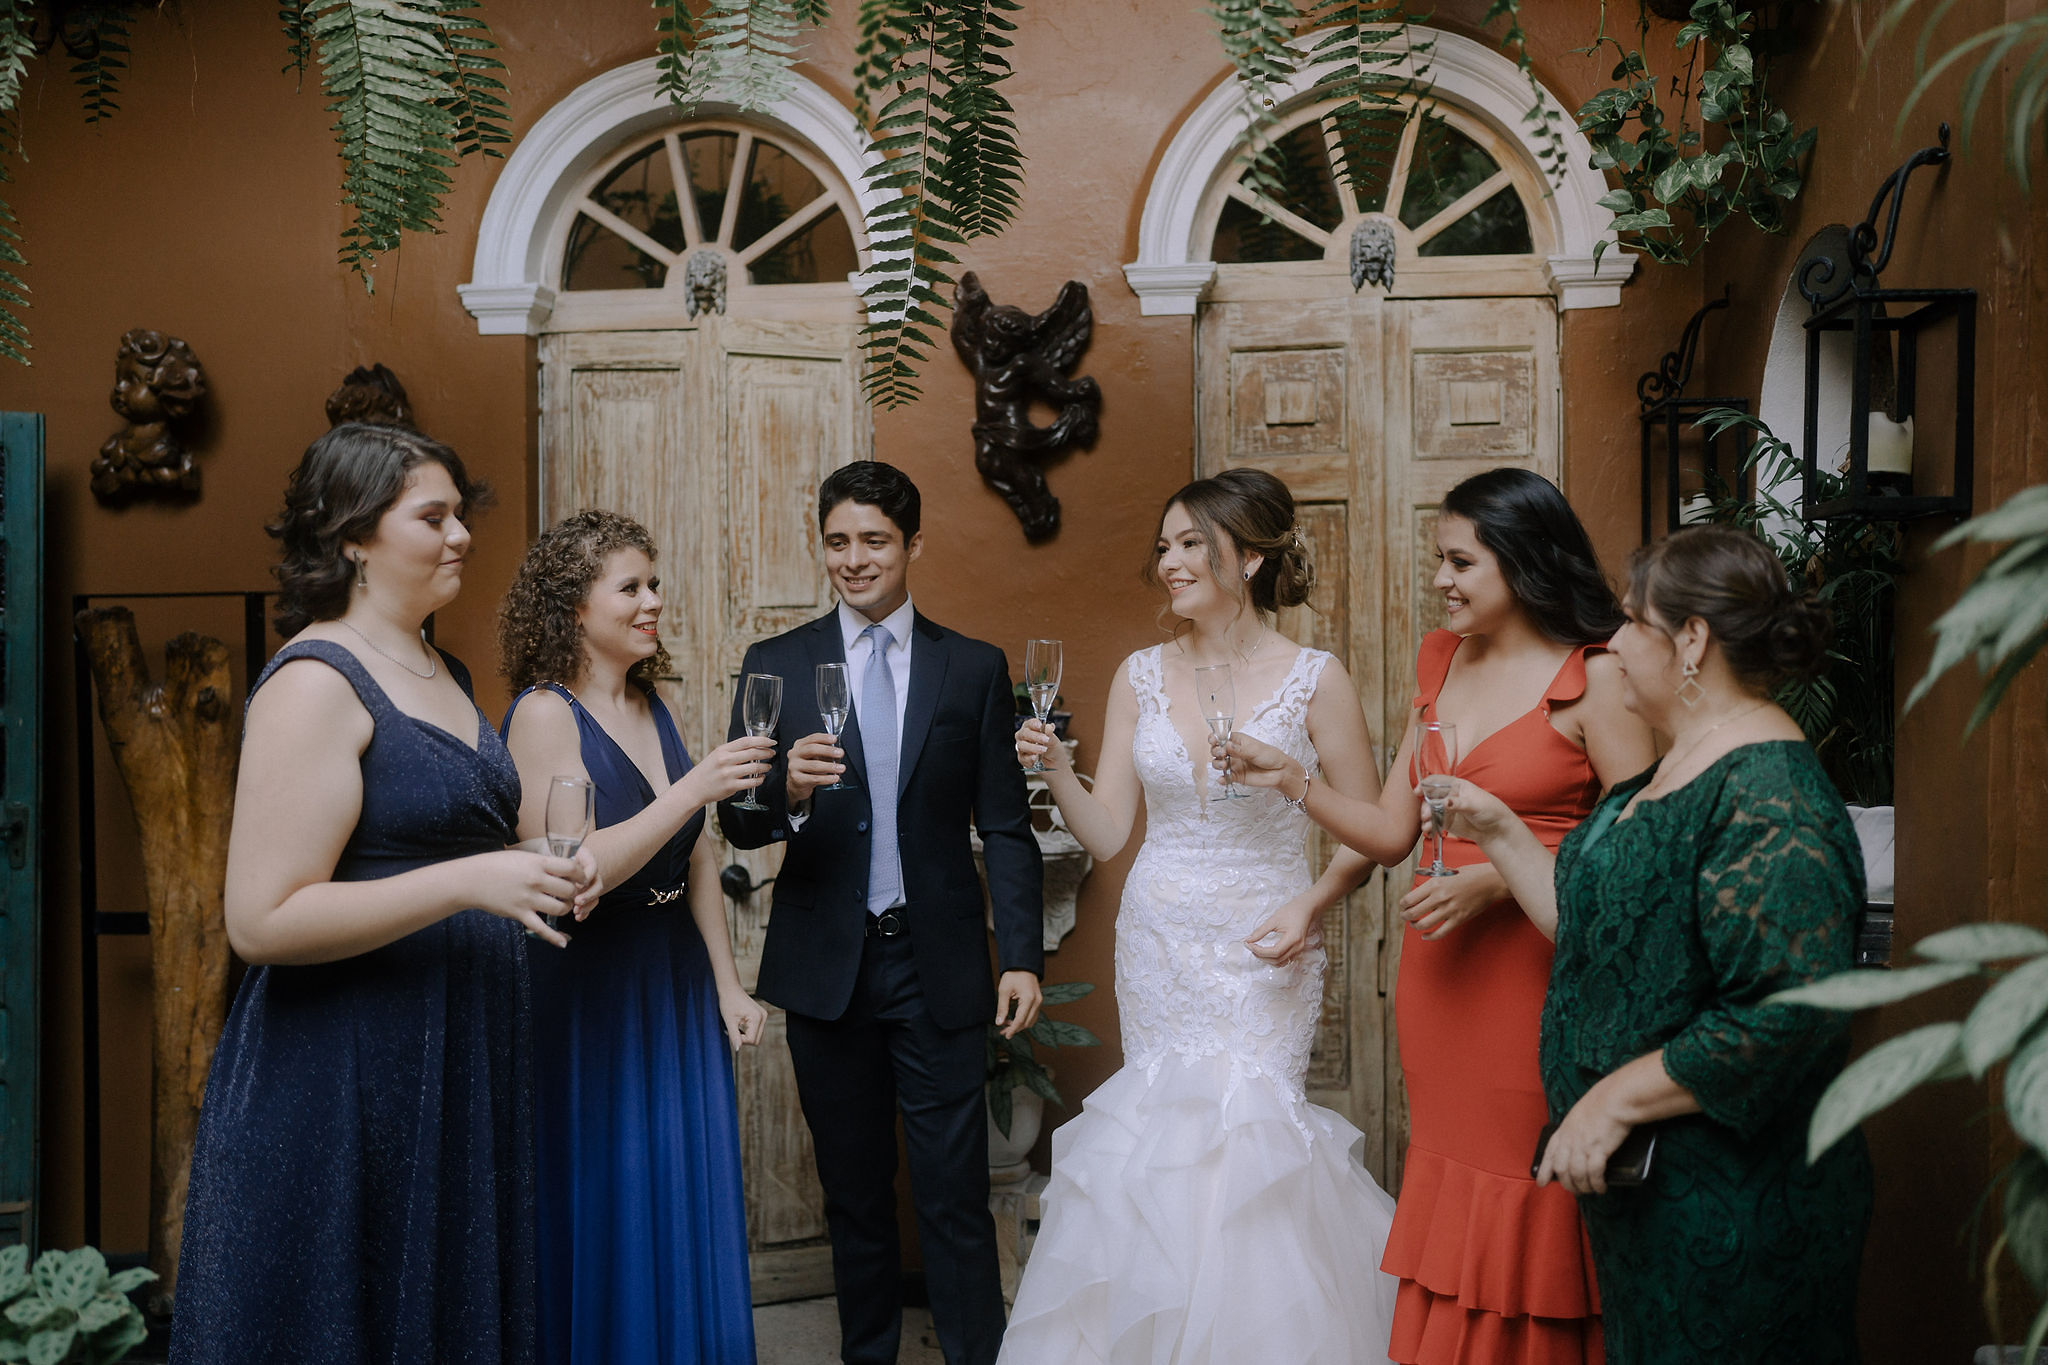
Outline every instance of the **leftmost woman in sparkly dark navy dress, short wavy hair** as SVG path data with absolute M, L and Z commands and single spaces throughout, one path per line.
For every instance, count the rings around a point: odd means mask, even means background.
M 590 860 L 506 849 L 518 772 L 422 622 L 477 485 L 446 446 L 338 426 L 270 534 L 227 939 L 252 964 L 193 1150 L 180 1365 L 535 1359 L 526 939 Z

